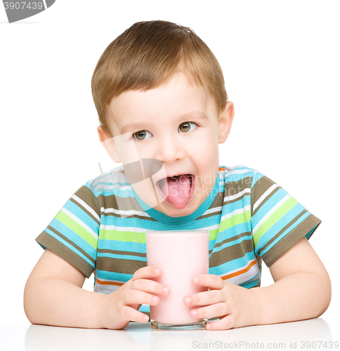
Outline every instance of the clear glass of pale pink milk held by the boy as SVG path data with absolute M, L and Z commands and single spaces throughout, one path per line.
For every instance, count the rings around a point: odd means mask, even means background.
M 148 266 L 162 270 L 153 280 L 171 289 L 168 296 L 159 296 L 157 305 L 150 306 L 152 329 L 205 329 L 207 319 L 192 318 L 190 311 L 195 306 L 187 306 L 183 301 L 187 295 L 208 290 L 193 284 L 192 278 L 209 272 L 209 231 L 166 230 L 145 234 Z

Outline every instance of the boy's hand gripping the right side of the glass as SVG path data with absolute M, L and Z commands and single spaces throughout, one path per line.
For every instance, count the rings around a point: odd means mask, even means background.
M 191 316 L 197 319 L 220 318 L 219 321 L 207 324 L 208 330 L 224 330 L 254 324 L 257 312 L 251 289 L 225 282 L 214 274 L 198 275 L 192 282 L 210 290 L 185 296 L 185 305 L 205 306 L 191 310 Z

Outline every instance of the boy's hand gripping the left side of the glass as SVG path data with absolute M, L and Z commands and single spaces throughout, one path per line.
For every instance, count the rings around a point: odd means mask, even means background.
M 132 322 L 148 322 L 147 314 L 138 311 L 140 305 L 157 305 L 159 297 L 170 293 L 169 286 L 164 286 L 150 279 L 161 274 L 158 267 L 143 267 L 116 291 L 103 295 L 100 304 L 100 319 L 103 328 L 123 329 Z

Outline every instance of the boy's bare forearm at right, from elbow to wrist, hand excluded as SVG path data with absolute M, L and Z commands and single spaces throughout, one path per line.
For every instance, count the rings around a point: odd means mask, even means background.
M 253 324 L 294 322 L 319 317 L 329 306 L 327 274 L 299 272 L 270 286 L 250 289 L 258 309 Z

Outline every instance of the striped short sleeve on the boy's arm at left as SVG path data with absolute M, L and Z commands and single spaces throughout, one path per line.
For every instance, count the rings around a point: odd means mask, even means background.
M 86 183 L 67 200 L 36 241 L 89 278 L 96 268 L 99 227 L 100 207 L 91 183 Z

